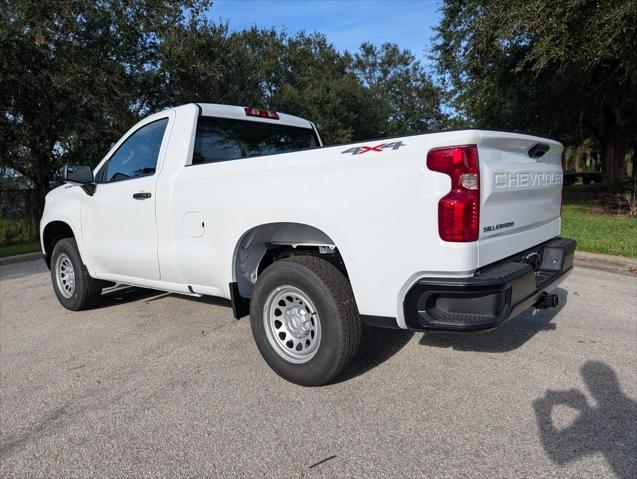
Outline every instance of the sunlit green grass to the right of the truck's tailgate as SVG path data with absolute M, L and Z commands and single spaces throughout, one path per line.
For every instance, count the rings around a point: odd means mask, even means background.
M 562 236 L 576 240 L 580 251 L 637 257 L 637 218 L 593 212 L 598 206 L 594 188 L 566 187 Z

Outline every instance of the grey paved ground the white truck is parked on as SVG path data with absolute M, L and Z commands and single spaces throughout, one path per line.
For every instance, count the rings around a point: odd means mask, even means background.
M 367 330 L 336 384 L 276 376 L 229 304 L 138 288 L 73 313 L 0 267 L 0 476 L 636 477 L 637 277 L 480 335 Z

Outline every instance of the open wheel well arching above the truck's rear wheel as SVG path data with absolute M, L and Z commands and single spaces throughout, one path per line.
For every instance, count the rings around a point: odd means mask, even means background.
M 300 255 L 320 256 L 347 277 L 345 262 L 327 234 L 301 223 L 269 223 L 246 232 L 235 248 L 233 272 L 239 294 L 249 298 L 265 268 L 280 259 Z

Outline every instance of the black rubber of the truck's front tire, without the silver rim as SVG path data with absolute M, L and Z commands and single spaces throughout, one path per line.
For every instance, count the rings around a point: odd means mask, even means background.
M 62 255 L 66 255 L 73 266 L 75 287 L 70 297 L 67 297 L 68 293 L 65 295 L 62 292 L 57 279 L 56 268 Z M 102 282 L 89 276 L 80 257 L 75 238 L 63 238 L 55 244 L 51 254 L 51 282 L 60 304 L 71 311 L 80 311 L 95 306 L 102 294 Z

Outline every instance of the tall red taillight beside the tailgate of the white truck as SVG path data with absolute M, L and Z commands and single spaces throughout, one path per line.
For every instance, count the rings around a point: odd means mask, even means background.
M 449 175 L 451 191 L 438 202 L 438 233 L 444 241 L 476 241 L 480 224 L 480 167 L 476 145 L 434 148 L 427 167 Z

